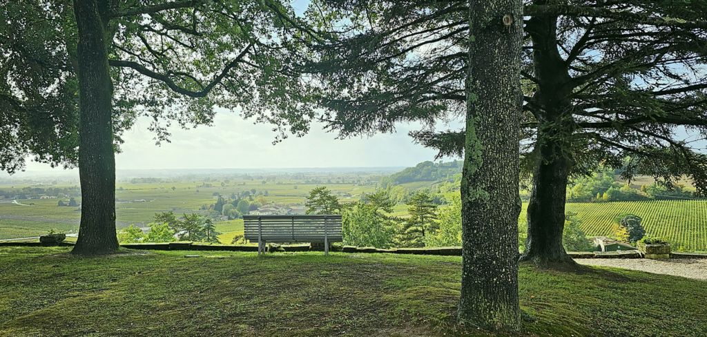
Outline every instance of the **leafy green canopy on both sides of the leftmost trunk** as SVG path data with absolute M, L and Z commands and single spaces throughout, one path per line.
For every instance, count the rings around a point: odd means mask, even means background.
M 115 148 L 137 117 L 151 120 L 158 142 L 168 126 L 210 124 L 215 105 L 303 134 L 313 114 L 310 85 L 291 71 L 305 29 L 280 1 L 184 1 L 98 6 L 113 86 Z M 105 8 L 104 8 L 105 7 Z M 110 8 L 109 8 L 110 7 Z M 114 8 L 115 7 L 115 8 Z M 0 170 L 24 158 L 76 165 L 78 155 L 77 23 L 71 1 L 4 1 L 0 6 Z M 103 13 L 110 11 L 110 13 Z M 199 41 L 199 43 L 195 43 Z M 247 94 L 246 94 L 247 93 Z M 267 109 L 262 109 L 267 107 Z M 287 115 L 291 124 L 275 119 Z

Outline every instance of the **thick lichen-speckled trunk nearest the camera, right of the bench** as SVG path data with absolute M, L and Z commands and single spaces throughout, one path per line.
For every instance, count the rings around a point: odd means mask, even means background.
M 462 292 L 457 317 L 467 326 L 516 330 L 520 324 L 522 3 L 469 1 L 469 20 L 472 36 L 461 187 Z

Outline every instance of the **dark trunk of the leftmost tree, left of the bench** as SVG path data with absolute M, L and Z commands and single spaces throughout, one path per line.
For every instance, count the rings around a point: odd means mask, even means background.
M 78 149 L 81 225 L 74 254 L 106 254 L 118 249 L 115 235 L 112 83 L 105 40 L 107 9 L 107 1 L 74 0 L 81 105 Z

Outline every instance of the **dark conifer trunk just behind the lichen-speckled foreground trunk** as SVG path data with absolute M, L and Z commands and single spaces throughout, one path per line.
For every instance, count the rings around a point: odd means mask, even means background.
M 537 0 L 534 4 L 547 4 Z M 572 165 L 571 77 L 557 49 L 557 17 L 531 18 L 526 30 L 533 42 L 533 63 L 538 90 L 534 100 L 542 106 L 536 141 L 537 166 L 527 209 L 527 240 L 521 261 L 538 266 L 573 266 L 562 245 L 565 225 L 565 194 Z

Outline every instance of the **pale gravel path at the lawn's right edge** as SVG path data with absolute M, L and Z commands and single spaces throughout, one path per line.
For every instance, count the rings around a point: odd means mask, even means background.
M 575 259 L 579 264 L 646 271 L 648 273 L 707 280 L 707 259 Z

